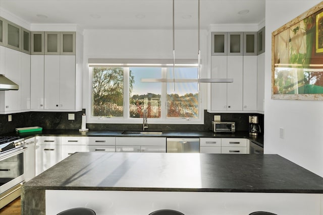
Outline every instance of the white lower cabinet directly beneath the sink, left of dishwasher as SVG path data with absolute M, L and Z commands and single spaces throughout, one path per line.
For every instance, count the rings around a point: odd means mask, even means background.
M 165 153 L 166 137 L 116 137 L 116 152 Z

